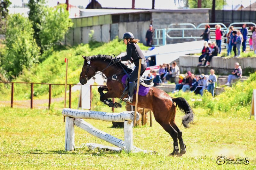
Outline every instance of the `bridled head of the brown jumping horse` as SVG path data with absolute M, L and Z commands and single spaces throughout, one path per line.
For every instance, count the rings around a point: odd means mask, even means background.
M 84 65 L 82 72 L 80 73 L 79 81 L 82 85 L 86 84 L 95 75 L 95 69 L 91 65 L 89 58 L 82 56 L 84 58 Z

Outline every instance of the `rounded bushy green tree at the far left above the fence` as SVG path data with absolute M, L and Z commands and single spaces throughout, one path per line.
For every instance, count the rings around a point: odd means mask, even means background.
M 1 65 L 9 79 L 18 76 L 24 68 L 30 69 L 38 62 L 40 48 L 33 39 L 33 33 L 28 18 L 20 14 L 8 17 L 4 40 L 5 52 Z

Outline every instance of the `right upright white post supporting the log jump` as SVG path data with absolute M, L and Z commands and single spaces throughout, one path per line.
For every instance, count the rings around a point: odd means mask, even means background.
M 132 143 L 132 121 L 124 121 L 124 151 L 131 152 L 133 148 Z

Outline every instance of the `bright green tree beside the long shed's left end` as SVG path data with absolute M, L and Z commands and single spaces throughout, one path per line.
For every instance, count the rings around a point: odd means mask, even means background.
M 73 23 L 68 18 L 69 13 L 66 10 L 66 4 L 60 4 L 54 8 L 45 7 L 43 13 L 41 25 L 38 25 L 39 38 L 43 50 L 47 50 L 64 39 L 65 33 Z

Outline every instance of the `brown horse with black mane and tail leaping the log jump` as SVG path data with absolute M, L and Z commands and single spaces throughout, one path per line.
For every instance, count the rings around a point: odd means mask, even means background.
M 84 65 L 79 78 L 81 85 L 86 84 L 94 75 L 101 74 L 107 79 L 107 82 L 106 86 L 100 86 L 98 89 L 100 101 L 109 107 L 122 107 L 120 103 L 113 103 L 109 99 L 120 98 L 124 91 L 121 79 L 126 74 L 125 72 L 131 72 L 132 70 L 121 62 L 116 64 L 116 59 L 110 55 L 99 54 L 82 57 L 84 58 Z M 103 93 L 103 91 L 107 92 Z M 134 106 L 135 102 L 136 94 L 133 96 L 133 103 L 129 104 Z M 182 97 L 173 98 L 161 89 L 150 87 L 146 96 L 138 96 L 138 107 L 152 110 L 156 122 L 172 137 L 173 152 L 170 155 L 181 156 L 187 152 L 182 138 L 182 132 L 175 124 L 176 109 L 181 110 L 185 114 L 182 117 L 182 124 L 186 129 L 190 127 L 189 124 L 195 124 L 193 121 L 194 112 L 186 99 Z

